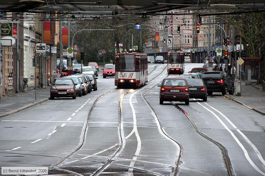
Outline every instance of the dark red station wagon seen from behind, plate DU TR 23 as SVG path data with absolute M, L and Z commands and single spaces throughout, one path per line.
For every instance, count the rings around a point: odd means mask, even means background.
M 185 101 L 189 105 L 189 87 L 184 78 L 164 78 L 160 87 L 159 103 L 164 101 Z

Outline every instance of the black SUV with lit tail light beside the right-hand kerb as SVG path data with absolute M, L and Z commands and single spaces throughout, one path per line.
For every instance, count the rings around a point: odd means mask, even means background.
M 235 92 L 234 82 L 226 72 L 204 72 L 201 78 L 207 87 L 208 95 L 212 95 L 213 92 L 222 92 L 222 95 L 229 92 L 230 95 L 233 95 Z

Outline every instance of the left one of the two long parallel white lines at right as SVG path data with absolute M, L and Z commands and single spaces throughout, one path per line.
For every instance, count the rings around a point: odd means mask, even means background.
M 246 148 L 244 148 L 244 145 L 242 145 L 242 143 L 238 140 L 238 138 L 235 136 L 235 134 L 226 126 L 226 124 L 223 123 L 223 121 L 210 109 L 206 108 L 205 106 L 203 106 L 203 108 L 205 108 L 207 111 L 211 112 L 216 119 L 223 125 L 224 128 L 226 128 L 226 130 L 231 134 L 231 136 L 235 139 L 235 141 L 238 143 L 238 145 L 241 147 L 241 149 L 244 152 L 245 158 L 248 160 L 249 164 L 256 170 L 258 171 L 260 174 L 265 175 L 264 172 L 262 172 L 251 160 L 251 158 L 249 157 L 249 153 L 246 150 Z

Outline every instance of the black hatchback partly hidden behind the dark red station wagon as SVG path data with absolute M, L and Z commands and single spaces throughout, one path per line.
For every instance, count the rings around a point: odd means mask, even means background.
M 189 98 L 199 98 L 207 101 L 207 88 L 203 79 L 186 79 L 189 86 Z

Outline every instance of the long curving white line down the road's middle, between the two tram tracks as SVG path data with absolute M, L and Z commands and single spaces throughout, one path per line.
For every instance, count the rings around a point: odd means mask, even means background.
M 153 84 L 153 83 L 154 83 L 154 82 L 151 82 L 149 85 L 151 85 L 151 84 Z M 140 89 L 140 90 L 143 90 L 143 89 L 145 89 L 145 87 L 143 87 L 143 88 Z M 135 164 L 135 162 L 136 162 L 136 160 L 137 160 L 137 157 L 138 157 L 138 155 L 139 155 L 139 153 L 140 153 L 141 145 L 142 145 L 142 141 L 141 141 L 141 138 L 140 138 L 140 136 L 139 136 L 138 129 L 137 129 L 137 121 L 136 121 L 135 109 L 134 109 L 134 107 L 132 106 L 132 96 L 133 96 L 134 94 L 136 94 L 137 92 L 139 92 L 140 90 L 134 92 L 134 93 L 130 96 L 130 106 L 131 106 L 131 109 L 132 109 L 132 118 L 133 118 L 133 129 L 134 129 L 134 133 L 135 133 L 135 136 L 136 136 L 136 139 L 137 139 L 137 149 L 136 149 L 135 154 L 134 154 L 134 156 L 133 156 L 133 158 L 132 158 L 132 161 L 131 161 L 131 163 L 130 163 L 130 166 L 131 166 L 131 167 L 134 166 L 134 164 Z M 130 172 L 129 175 L 133 175 L 133 172 L 132 172 L 132 171 L 133 171 L 133 168 L 130 168 L 130 169 L 128 170 L 128 172 Z

